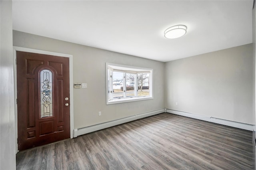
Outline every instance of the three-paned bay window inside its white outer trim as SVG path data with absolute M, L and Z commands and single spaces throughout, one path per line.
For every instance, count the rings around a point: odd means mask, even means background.
M 112 68 L 114 67 L 114 68 Z M 108 101 L 118 99 L 135 99 L 140 97 L 152 97 L 150 85 L 152 79 L 151 70 L 121 68 L 107 66 L 108 73 Z M 141 99 L 141 98 L 140 98 Z

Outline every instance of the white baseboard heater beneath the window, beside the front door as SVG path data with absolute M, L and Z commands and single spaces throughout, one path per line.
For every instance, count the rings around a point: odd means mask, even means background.
M 138 115 L 134 115 L 134 116 L 130 116 L 130 117 L 126 117 L 126 118 L 122 118 L 122 119 L 118 119 L 115 121 L 110 121 L 110 122 L 106 122 L 106 123 L 100 123 L 98 125 L 93 125 L 90 127 L 84 127 L 84 128 L 76 128 L 74 129 L 74 137 L 86 134 L 86 133 L 90 133 L 90 132 L 94 132 L 97 130 L 101 130 L 104 128 L 108 128 L 108 127 L 112 127 L 112 126 L 116 126 L 116 125 L 120 125 L 122 123 L 127 123 L 130 121 L 135 121 L 137 119 L 141 119 L 144 117 L 149 117 L 149 116 L 153 116 L 153 115 L 157 115 L 160 113 L 164 113 L 164 109 L 160 109 L 157 111 L 152 111 L 152 112 L 148 112 L 148 113 L 142 113 L 142 114 L 138 114 Z

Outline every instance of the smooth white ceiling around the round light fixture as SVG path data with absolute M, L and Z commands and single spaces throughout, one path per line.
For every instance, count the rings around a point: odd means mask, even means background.
M 13 29 L 158 61 L 252 43 L 252 0 L 14 0 Z M 187 33 L 164 38 L 183 24 Z

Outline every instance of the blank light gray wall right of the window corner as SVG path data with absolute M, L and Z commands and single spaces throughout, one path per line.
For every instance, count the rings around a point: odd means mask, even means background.
M 254 125 L 252 52 L 247 44 L 167 62 L 165 107 Z

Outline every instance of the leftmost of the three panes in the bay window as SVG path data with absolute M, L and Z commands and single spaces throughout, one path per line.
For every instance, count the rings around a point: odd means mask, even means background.
M 113 71 L 113 99 L 124 98 L 123 81 L 124 73 Z

